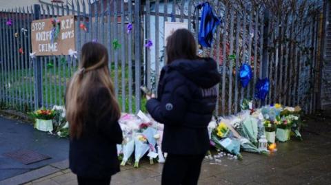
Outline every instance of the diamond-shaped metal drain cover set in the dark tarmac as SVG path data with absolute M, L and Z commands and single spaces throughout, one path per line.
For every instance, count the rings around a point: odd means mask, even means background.
M 10 157 L 13 160 L 17 160 L 23 164 L 32 164 L 34 162 L 48 160 L 51 158 L 47 155 L 43 155 L 40 153 L 36 153 L 34 151 L 25 150 L 25 149 L 13 151 L 10 153 L 3 153 L 3 156 Z

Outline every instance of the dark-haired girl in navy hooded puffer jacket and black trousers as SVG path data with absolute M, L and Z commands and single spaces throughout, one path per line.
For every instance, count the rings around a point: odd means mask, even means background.
M 198 58 L 190 31 L 168 37 L 167 65 L 159 80 L 158 96 L 148 98 L 150 115 L 164 124 L 162 150 L 168 153 L 162 184 L 197 184 L 209 149 L 208 123 L 217 101 L 220 81 L 217 63 Z

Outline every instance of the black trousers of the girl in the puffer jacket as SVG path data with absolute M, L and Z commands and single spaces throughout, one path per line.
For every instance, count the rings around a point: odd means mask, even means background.
M 168 154 L 162 172 L 162 185 L 196 185 L 205 155 Z

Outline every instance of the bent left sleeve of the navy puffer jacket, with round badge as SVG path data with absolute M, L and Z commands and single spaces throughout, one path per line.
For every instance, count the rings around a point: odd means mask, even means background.
M 152 118 L 163 124 L 182 123 L 190 102 L 190 91 L 181 78 L 165 81 L 159 100 L 148 100 L 146 108 Z

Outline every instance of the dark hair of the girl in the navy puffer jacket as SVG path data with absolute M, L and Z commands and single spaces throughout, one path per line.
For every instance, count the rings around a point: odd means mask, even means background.
M 176 30 L 167 38 L 167 64 L 172 63 L 177 59 L 197 58 L 197 45 L 193 34 L 187 29 Z

